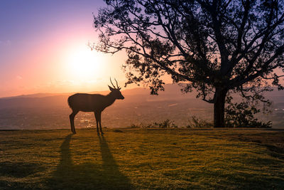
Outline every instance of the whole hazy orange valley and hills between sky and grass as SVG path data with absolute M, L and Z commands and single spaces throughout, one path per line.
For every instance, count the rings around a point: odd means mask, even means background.
M 121 90 L 121 92 L 125 99 L 117 100 L 103 112 L 102 122 L 106 127 L 129 127 L 132 124 L 167 119 L 173 120 L 180 127 L 185 127 L 192 115 L 207 120 L 213 118 L 212 104 L 197 99 L 196 92 L 182 94 L 178 85 L 165 85 L 165 91 L 160 92 L 159 95 L 150 95 L 150 90 L 145 88 L 133 88 Z M 109 91 L 91 93 L 106 95 Z M 0 98 L 0 130 L 69 127 L 68 115 L 71 110 L 67 105 L 67 97 L 72 94 L 74 93 L 39 93 L 2 97 Z M 273 126 L 284 128 L 284 122 L 282 122 L 284 93 L 274 90 L 266 93 L 266 97 L 273 101 L 275 112 L 272 115 L 266 115 L 265 120 L 275 120 Z M 80 127 L 93 126 L 93 121 L 92 113 L 77 115 L 77 125 Z

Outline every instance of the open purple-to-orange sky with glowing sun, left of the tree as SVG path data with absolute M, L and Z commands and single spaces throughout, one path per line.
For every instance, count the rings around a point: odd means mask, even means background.
M 93 13 L 102 0 L 1 0 L 0 97 L 107 90 L 124 86 L 124 52 L 91 51 Z

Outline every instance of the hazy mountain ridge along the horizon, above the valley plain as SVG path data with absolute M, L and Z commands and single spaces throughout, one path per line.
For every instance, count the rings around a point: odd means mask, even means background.
M 147 102 L 163 100 L 182 100 L 195 98 L 196 93 L 182 95 L 180 86 L 165 85 L 165 91 L 159 95 L 150 95 L 150 91 L 145 88 L 133 88 L 130 90 L 121 90 L 124 95 L 125 103 L 129 102 Z M 107 95 L 110 91 L 89 92 L 92 94 Z M 11 107 L 53 107 L 66 106 L 67 97 L 75 93 L 38 93 L 32 95 L 19 95 L 13 97 L 1 97 L 0 109 Z

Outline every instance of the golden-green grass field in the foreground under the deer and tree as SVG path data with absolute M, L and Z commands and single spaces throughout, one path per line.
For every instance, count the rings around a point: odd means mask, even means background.
M 284 131 L 0 131 L 0 189 L 284 189 Z

